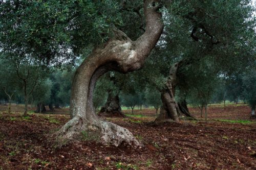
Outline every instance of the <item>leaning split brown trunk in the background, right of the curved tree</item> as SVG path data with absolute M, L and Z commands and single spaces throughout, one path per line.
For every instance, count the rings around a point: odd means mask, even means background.
M 166 122 L 170 119 L 174 120 L 175 122 L 179 122 L 178 115 L 180 114 L 180 110 L 174 98 L 175 86 L 177 84 L 177 68 L 177 63 L 170 68 L 169 77 L 166 81 L 165 88 L 161 91 L 161 100 L 163 105 L 160 108 L 160 114 L 155 120 L 156 123 Z

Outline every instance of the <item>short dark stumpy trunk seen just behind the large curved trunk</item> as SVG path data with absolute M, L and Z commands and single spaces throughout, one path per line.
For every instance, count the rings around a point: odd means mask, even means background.
M 125 116 L 122 113 L 118 94 L 114 95 L 112 90 L 109 90 L 108 99 L 103 107 L 101 107 L 98 115 L 105 116 Z

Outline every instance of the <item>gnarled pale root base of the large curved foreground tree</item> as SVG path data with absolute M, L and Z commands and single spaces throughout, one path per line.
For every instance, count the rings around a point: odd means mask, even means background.
M 89 122 L 92 123 L 89 124 Z M 72 140 L 96 140 L 115 147 L 121 144 L 133 147 L 142 146 L 129 130 L 100 119 L 87 121 L 80 117 L 74 117 L 55 135 L 57 143 L 60 145 Z

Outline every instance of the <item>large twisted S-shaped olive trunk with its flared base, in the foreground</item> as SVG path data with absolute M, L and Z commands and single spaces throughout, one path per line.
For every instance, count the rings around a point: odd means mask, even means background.
M 77 139 L 81 132 L 87 132 L 89 137 L 97 136 L 104 144 L 141 145 L 129 130 L 97 116 L 93 107 L 93 90 L 97 79 L 107 71 L 126 73 L 142 67 L 163 30 L 161 13 L 158 12 L 161 6 L 157 2 L 144 1 L 146 31 L 136 41 L 120 30 L 114 30 L 115 37 L 96 48 L 78 67 L 71 89 L 70 112 L 73 118 L 56 132 L 59 142 Z

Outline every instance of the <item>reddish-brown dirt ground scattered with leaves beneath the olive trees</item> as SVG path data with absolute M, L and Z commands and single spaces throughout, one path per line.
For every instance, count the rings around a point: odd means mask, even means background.
M 30 112 L 24 117 L 18 112 L 22 108 L 16 109 L 0 112 L 0 169 L 256 169 L 256 122 L 244 105 L 210 106 L 208 122 L 197 108 L 189 110 L 198 120 L 179 124 L 148 124 L 155 119 L 151 109 L 106 118 L 129 129 L 142 148 L 114 148 L 86 138 L 57 148 L 47 135 L 65 124 L 68 115 Z

